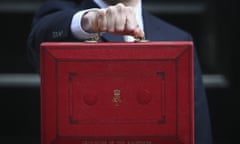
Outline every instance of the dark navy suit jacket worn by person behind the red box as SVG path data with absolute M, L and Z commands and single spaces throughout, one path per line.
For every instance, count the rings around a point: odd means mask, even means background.
M 98 7 L 91 0 L 51 0 L 42 5 L 33 19 L 32 30 L 28 39 L 28 52 L 31 61 L 39 72 L 39 46 L 43 41 L 79 41 L 70 31 L 74 13 L 81 9 Z M 189 41 L 192 37 L 187 32 L 143 11 L 144 31 L 150 41 Z M 123 41 L 121 36 L 104 33 L 103 41 Z M 195 144 L 210 144 L 212 141 L 208 103 L 201 77 L 201 70 L 195 50 L 194 55 L 195 85 Z

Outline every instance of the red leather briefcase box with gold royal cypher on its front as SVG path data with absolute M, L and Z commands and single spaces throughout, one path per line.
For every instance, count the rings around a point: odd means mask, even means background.
M 46 42 L 41 144 L 194 144 L 192 42 Z

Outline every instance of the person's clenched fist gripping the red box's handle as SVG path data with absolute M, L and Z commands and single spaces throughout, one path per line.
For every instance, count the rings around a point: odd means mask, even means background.
M 109 32 L 113 34 L 144 37 L 133 7 L 119 3 L 98 11 L 89 11 L 81 23 L 86 32 Z

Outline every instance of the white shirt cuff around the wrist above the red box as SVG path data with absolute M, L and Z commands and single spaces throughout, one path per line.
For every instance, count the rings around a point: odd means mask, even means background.
M 79 11 L 73 15 L 72 22 L 71 22 L 71 32 L 77 39 L 90 39 L 92 37 L 96 37 L 97 33 L 87 33 L 82 29 L 81 20 L 82 16 L 89 11 L 96 11 L 99 10 L 97 8 L 87 9 L 83 11 Z

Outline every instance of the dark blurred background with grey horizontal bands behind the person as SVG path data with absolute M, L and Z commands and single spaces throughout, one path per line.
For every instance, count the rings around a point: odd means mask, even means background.
M 26 55 L 26 40 L 42 2 L 0 0 L 0 140 L 4 144 L 40 144 L 40 83 Z M 239 48 L 238 1 L 143 0 L 143 6 L 192 34 L 207 90 L 214 144 L 232 144 L 233 106 L 240 88 L 235 52 Z

